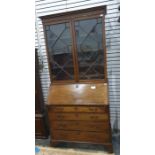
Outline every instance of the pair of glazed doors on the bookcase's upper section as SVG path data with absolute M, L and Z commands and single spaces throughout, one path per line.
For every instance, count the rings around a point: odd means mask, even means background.
M 51 81 L 105 80 L 104 16 L 44 26 Z

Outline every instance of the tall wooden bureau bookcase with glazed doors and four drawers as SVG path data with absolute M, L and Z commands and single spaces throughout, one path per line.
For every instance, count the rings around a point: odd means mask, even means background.
M 112 152 L 105 45 L 106 7 L 41 17 L 51 78 L 51 145 L 103 144 Z

